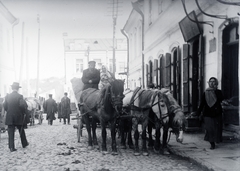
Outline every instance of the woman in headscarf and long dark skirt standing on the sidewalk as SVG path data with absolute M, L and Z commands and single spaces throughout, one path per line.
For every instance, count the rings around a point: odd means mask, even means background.
M 208 81 L 209 87 L 202 96 L 197 115 L 202 118 L 205 127 L 205 141 L 211 144 L 210 149 L 215 149 L 215 143 L 222 141 L 222 91 L 217 88 L 218 80 L 211 77 Z M 203 113 L 201 115 L 201 112 Z

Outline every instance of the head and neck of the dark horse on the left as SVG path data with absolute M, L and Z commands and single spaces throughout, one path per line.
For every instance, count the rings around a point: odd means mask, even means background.
M 112 107 L 119 113 L 123 106 L 123 91 L 124 91 L 124 81 L 119 79 L 114 79 L 110 82 L 110 85 L 105 86 L 105 109 L 110 110 L 110 105 L 108 101 L 111 102 Z

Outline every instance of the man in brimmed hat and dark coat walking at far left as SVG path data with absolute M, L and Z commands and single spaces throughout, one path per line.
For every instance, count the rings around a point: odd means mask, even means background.
M 4 109 L 7 112 L 5 124 L 8 125 L 8 147 L 11 152 L 16 151 L 14 145 L 14 132 L 15 127 L 17 127 L 22 147 L 25 148 L 29 145 L 26 134 L 24 131 L 24 123 L 25 123 L 25 112 L 27 110 L 27 103 L 23 99 L 23 96 L 18 93 L 19 83 L 14 82 L 12 85 L 13 92 L 8 94 L 5 97 L 5 101 L 3 103 Z

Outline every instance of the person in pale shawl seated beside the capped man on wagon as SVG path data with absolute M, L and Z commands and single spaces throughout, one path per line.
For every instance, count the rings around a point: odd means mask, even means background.
M 100 70 L 100 83 L 99 89 L 102 89 L 106 85 L 110 84 L 114 80 L 113 74 L 107 70 L 105 65 L 102 65 L 102 69 Z

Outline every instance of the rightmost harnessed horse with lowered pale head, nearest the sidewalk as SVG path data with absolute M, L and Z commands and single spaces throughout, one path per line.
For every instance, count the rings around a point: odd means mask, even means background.
M 156 151 L 160 151 L 160 137 L 161 137 L 161 131 L 160 128 L 163 129 L 163 135 L 162 135 L 162 145 L 161 145 L 161 152 L 162 154 L 169 154 L 167 150 L 167 141 L 168 138 L 170 138 L 171 132 L 173 132 L 176 135 L 176 141 L 179 143 L 183 142 L 183 131 L 185 129 L 186 125 L 186 118 L 182 111 L 182 108 L 177 103 L 177 101 L 174 99 L 171 91 L 169 89 L 161 89 L 158 90 L 163 96 L 159 99 L 160 100 L 160 117 L 154 115 L 154 124 L 148 125 L 149 127 L 149 140 L 152 140 L 151 135 L 151 128 L 154 125 L 155 131 L 156 131 L 156 138 L 154 141 L 154 149 Z M 157 109 L 153 108 L 153 113 L 157 113 Z M 157 122 L 156 122 L 157 121 Z M 160 124 L 159 124 L 160 123 Z

